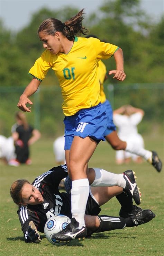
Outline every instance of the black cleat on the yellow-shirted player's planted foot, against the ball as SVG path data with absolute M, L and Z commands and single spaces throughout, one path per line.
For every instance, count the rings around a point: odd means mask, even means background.
M 56 239 L 59 241 L 70 241 L 75 238 L 84 238 L 87 235 L 87 230 L 85 225 L 81 229 L 77 229 L 79 227 L 79 222 L 75 220 L 75 218 L 71 219 L 71 222 L 65 229 L 62 231 L 53 234 L 52 239 Z

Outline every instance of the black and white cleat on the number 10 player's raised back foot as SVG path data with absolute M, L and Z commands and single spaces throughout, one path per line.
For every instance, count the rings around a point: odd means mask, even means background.
M 138 190 L 135 180 L 135 173 L 132 170 L 124 171 L 123 177 L 126 180 L 126 187 L 123 189 L 127 194 L 131 194 L 136 204 L 141 203 L 141 193 Z

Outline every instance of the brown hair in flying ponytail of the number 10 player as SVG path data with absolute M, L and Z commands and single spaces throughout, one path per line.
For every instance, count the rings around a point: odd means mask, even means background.
M 47 35 L 55 35 L 55 33 L 61 32 L 67 39 L 74 41 L 75 36 L 80 36 L 80 34 L 86 35 L 89 30 L 82 26 L 84 9 L 78 12 L 74 17 L 62 23 L 62 21 L 49 18 L 44 20 L 39 28 L 38 33 L 44 31 Z

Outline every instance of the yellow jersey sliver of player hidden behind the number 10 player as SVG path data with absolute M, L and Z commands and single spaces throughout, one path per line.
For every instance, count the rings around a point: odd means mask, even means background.
M 100 60 L 99 61 L 99 79 L 100 79 L 101 103 L 104 103 L 106 101 L 106 95 L 104 93 L 104 86 L 103 86 L 106 73 L 107 73 L 106 65 Z

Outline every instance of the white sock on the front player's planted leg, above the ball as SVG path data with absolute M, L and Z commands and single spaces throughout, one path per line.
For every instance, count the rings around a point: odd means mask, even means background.
M 79 222 L 79 228 L 85 224 L 84 214 L 86 203 L 89 196 L 89 181 L 88 179 L 77 179 L 72 182 L 71 189 L 71 212 L 72 218 Z

